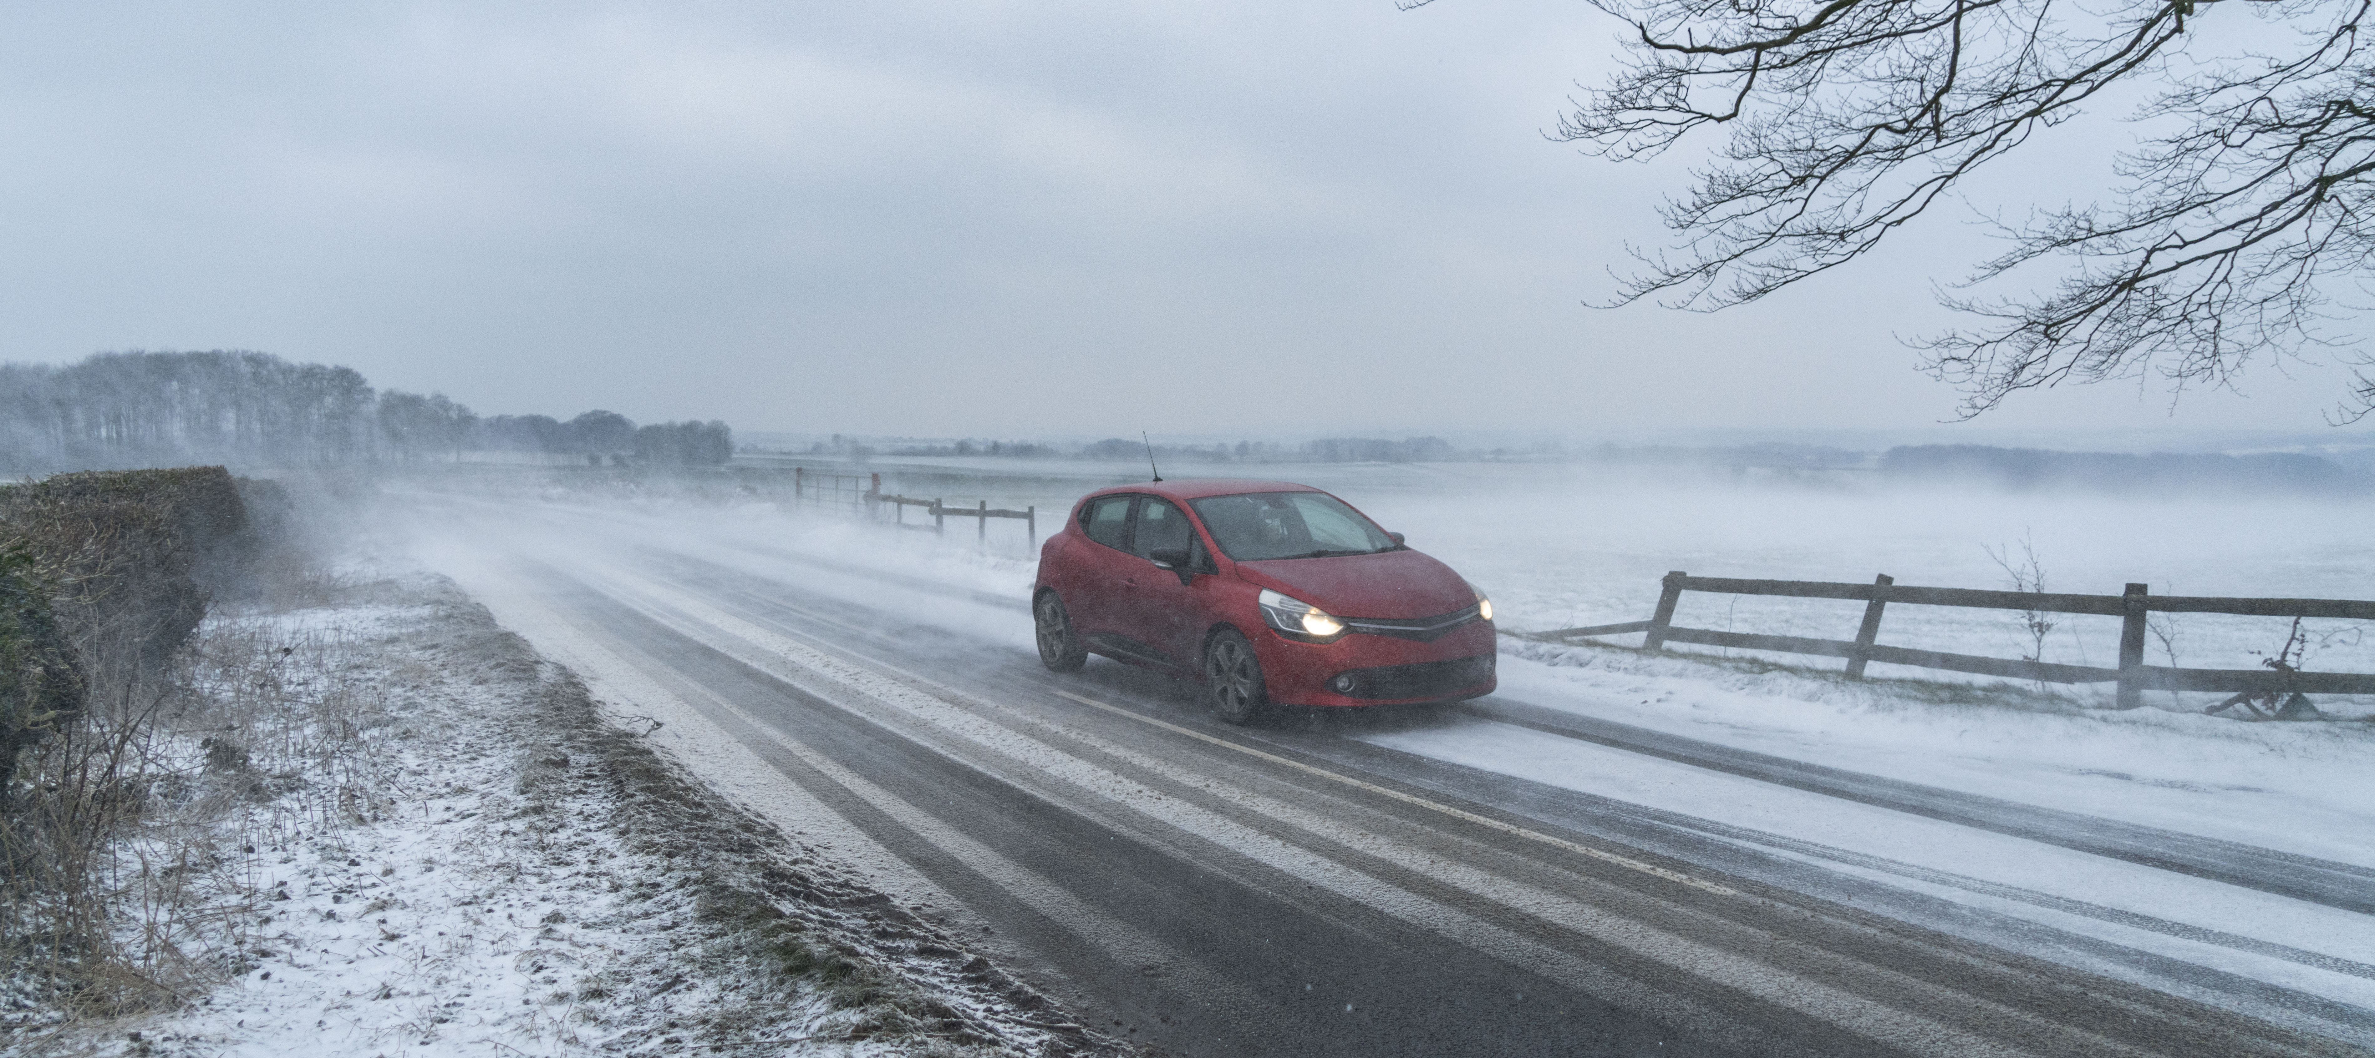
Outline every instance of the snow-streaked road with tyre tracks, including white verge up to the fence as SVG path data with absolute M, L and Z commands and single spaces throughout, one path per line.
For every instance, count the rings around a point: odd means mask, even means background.
M 1043 671 L 1026 562 L 418 508 L 432 565 L 696 773 L 1171 1051 L 2375 1046 L 2375 811 L 2332 788 L 2361 726 L 1843 709 L 1534 652 L 1470 709 L 1244 731 Z

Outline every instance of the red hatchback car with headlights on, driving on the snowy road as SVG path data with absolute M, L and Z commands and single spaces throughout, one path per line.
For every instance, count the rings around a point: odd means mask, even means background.
M 1368 515 L 1287 482 L 1150 482 L 1081 498 L 1040 548 L 1040 659 L 1090 652 L 1266 705 L 1454 702 L 1494 688 L 1492 600 Z

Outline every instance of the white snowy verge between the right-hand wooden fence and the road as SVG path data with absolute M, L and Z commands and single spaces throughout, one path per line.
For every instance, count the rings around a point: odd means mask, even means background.
M 1501 695 L 1648 731 L 2375 866 L 2375 724 L 2085 709 L 2026 686 L 1503 643 Z

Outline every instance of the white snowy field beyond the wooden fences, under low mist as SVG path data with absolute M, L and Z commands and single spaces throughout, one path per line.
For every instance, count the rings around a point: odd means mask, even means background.
M 884 467 L 886 491 L 940 496 L 950 505 L 1040 508 L 1052 529 L 1083 491 L 1133 479 L 1128 467 L 1078 460 L 914 460 Z M 938 474 L 981 472 L 976 479 Z M 902 474 L 914 477 L 905 482 Z M 936 474 L 936 477 L 922 477 Z M 990 477 L 995 474 L 995 477 Z M 1119 474 L 1119 477 L 1116 477 Z M 1168 467 L 1171 477 L 1275 477 L 1337 491 L 1408 534 L 1411 546 L 1451 562 L 1494 595 L 1501 624 L 1513 631 L 1575 629 L 1636 622 L 1658 603 L 1658 579 L 1670 569 L 1700 576 L 1760 576 L 1950 588 L 2012 588 L 1995 555 L 2042 572 L 2045 591 L 2118 595 L 2147 584 L 2156 595 L 2249 598 L 2375 598 L 2375 503 L 2330 498 L 2178 496 L 2123 501 L 2066 493 L 1995 493 L 1983 489 L 1902 491 L 1869 479 L 1741 479 L 1641 472 L 1591 472 L 1570 465 L 1404 463 L 1404 465 L 1206 465 Z M 967 491 L 969 489 L 969 491 Z M 553 493 L 568 501 L 565 493 Z M 646 510 L 667 510 L 651 503 Z M 743 517 L 774 505 L 753 503 Z M 910 517 L 919 517 L 912 515 Z M 988 560 L 976 550 L 974 524 L 950 520 L 945 541 L 929 534 L 895 543 L 834 538 L 824 512 L 791 512 L 786 524 L 826 534 L 815 548 L 855 565 L 869 555 L 895 562 L 948 562 L 964 553 L 971 569 L 950 569 L 967 584 L 1012 591 L 1028 581 L 1031 555 L 1019 522 L 993 522 Z M 727 527 L 727 531 L 741 531 Z M 781 529 L 750 527 L 750 538 Z M 1045 531 L 1043 531 L 1045 534 Z M 1014 579 L 1009 565 L 1021 560 Z M 981 569 L 995 569 L 983 579 Z M 1860 603 L 1786 600 L 1686 593 L 1677 624 L 1814 638 L 1855 638 Z M 2042 652 L 2021 614 L 1995 610 L 1895 605 L 1881 643 L 1993 657 L 2111 667 L 2118 619 L 2054 614 Z M 2304 622 L 2304 669 L 2375 671 L 2375 636 L 2356 622 Z M 2156 614 L 2147 640 L 2149 664 L 2197 669 L 2256 669 L 2282 650 L 2290 622 L 2223 614 Z M 1617 638 L 1639 643 L 1639 638 Z M 1710 650 L 1712 648 L 1679 648 Z M 1774 657 L 1793 664 L 1838 667 L 1836 659 Z M 1966 676 L 1876 664 L 1874 676 L 1969 681 Z M 2066 688 L 2083 702 L 2109 688 Z M 2218 695 L 2156 693 L 2159 707 L 2199 709 Z M 2320 702 L 2344 716 L 2375 714 L 2375 702 Z

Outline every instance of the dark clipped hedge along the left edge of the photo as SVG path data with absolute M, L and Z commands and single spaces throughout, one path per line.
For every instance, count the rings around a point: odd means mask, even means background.
M 223 467 L 0 486 L 0 989 L 86 1011 L 171 994 L 116 944 L 112 856 L 157 778 L 173 659 L 259 557 Z

